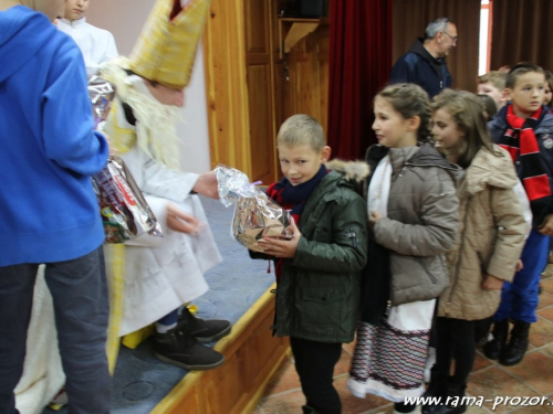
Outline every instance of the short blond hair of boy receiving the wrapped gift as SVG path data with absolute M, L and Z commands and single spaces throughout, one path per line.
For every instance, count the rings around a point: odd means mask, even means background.
M 300 114 L 291 116 L 281 125 L 276 145 L 286 147 L 310 145 L 315 151 L 320 151 L 326 141 L 321 124 L 309 115 Z

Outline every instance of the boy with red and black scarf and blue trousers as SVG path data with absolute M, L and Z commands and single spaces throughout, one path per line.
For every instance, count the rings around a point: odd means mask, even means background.
M 553 114 L 543 105 L 545 85 L 540 66 L 513 66 L 505 79 L 511 102 L 488 123 L 493 141 L 511 153 L 533 216 L 521 256 L 523 268 L 512 284 L 503 284 L 501 305 L 493 316 L 493 340 L 484 346 L 484 354 L 503 365 L 519 363 L 526 352 L 530 323 L 536 321 L 540 276 L 553 235 Z M 514 327 L 507 343 L 509 319 Z

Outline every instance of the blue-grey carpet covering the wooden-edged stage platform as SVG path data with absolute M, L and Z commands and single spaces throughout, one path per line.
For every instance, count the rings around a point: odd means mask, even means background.
M 265 261 L 252 261 L 248 251 L 230 236 L 233 206 L 226 209 L 218 200 L 201 198 L 211 231 L 223 262 L 206 274 L 209 291 L 194 301 L 204 319 L 236 322 L 274 282 L 267 273 Z M 271 266 L 272 267 L 272 266 Z M 212 346 L 213 343 L 211 343 Z M 185 376 L 186 370 L 153 357 L 150 341 L 137 349 L 122 348 L 113 379 L 112 413 L 149 413 Z M 43 414 L 66 414 L 66 408 Z

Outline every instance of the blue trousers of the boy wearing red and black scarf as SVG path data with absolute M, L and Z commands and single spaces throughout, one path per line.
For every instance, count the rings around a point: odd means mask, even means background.
M 547 264 L 550 236 L 532 230 L 522 251 L 524 268 L 514 275 L 512 283 L 504 282 L 501 290 L 501 304 L 493 316 L 498 322 L 507 318 L 521 322 L 535 322 L 538 308 L 538 287 L 543 269 Z

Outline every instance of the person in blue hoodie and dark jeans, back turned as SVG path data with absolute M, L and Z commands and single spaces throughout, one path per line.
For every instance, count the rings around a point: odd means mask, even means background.
M 108 145 L 93 131 L 76 44 L 51 23 L 64 0 L 0 0 L 0 413 L 25 359 L 39 264 L 53 297 L 72 413 L 108 413 L 104 231 L 91 176 Z

